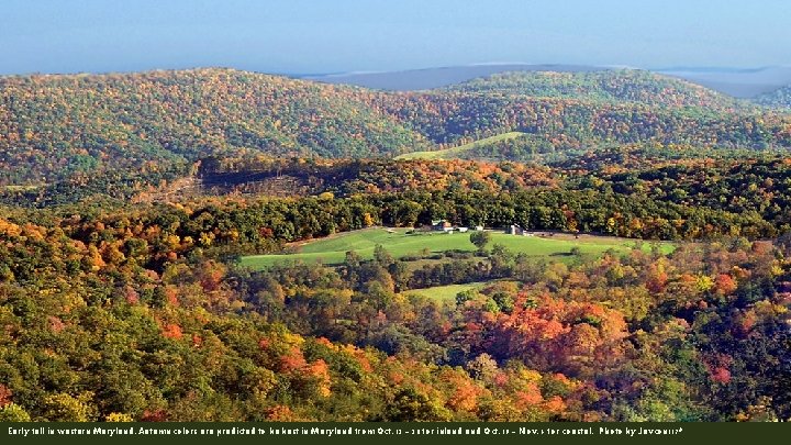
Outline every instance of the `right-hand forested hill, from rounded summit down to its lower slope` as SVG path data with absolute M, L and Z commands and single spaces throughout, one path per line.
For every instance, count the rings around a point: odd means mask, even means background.
M 554 149 L 602 144 L 789 146 L 787 116 L 643 71 L 515 73 L 456 87 L 389 94 L 388 113 L 445 149 L 522 132 Z

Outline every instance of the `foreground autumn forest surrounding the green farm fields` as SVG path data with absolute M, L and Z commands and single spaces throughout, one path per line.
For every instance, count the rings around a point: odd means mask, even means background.
M 788 165 L 716 167 L 712 183 L 698 170 L 519 193 L 3 207 L 0 421 L 788 420 L 791 240 L 748 240 L 788 232 L 788 200 L 773 200 Z M 690 241 L 233 262 L 436 218 Z M 469 282 L 486 285 L 410 292 Z

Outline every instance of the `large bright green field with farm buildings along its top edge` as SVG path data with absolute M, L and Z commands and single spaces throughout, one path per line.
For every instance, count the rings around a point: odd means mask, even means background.
M 569 235 L 554 237 L 515 236 L 502 232 L 491 232 L 492 242 L 502 244 L 513 253 L 525 253 L 534 256 L 556 256 L 558 259 L 569 258 L 567 255 L 572 247 L 579 247 L 586 255 L 601 255 L 606 249 L 627 252 L 634 246 L 634 240 L 599 237 L 582 235 L 575 240 Z M 276 263 L 287 260 L 302 260 L 305 263 L 321 262 L 324 264 L 339 264 L 346 257 L 346 252 L 355 251 L 364 258 L 374 256 L 374 248 L 381 244 L 396 258 L 405 255 L 419 255 L 427 248 L 432 253 L 445 251 L 475 252 L 476 247 L 469 241 L 468 233 L 437 233 L 406 234 L 406 229 L 386 230 L 381 227 L 364 229 L 360 231 L 336 234 L 326 238 L 309 242 L 293 254 L 253 255 L 242 257 L 242 266 L 252 269 L 263 269 Z M 649 245 L 646 243 L 646 248 Z M 661 244 L 664 252 L 671 252 L 671 243 Z

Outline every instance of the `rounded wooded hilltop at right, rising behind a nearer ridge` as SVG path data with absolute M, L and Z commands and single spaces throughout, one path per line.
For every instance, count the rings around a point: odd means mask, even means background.
M 673 77 L 636 69 L 584 73 L 517 71 L 481 77 L 448 91 L 637 102 L 655 107 L 745 108 L 746 102 Z

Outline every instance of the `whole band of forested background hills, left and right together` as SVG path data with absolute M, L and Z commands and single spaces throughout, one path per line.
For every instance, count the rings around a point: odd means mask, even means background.
M 573 89 L 577 78 L 588 80 Z M 791 146 L 788 115 L 731 107 L 682 81 L 632 71 L 571 79 L 505 94 L 487 91 L 491 80 L 383 92 L 231 69 L 5 77 L 0 186 L 127 174 L 145 181 L 239 152 L 390 157 L 513 131 L 553 151 L 643 142 Z M 553 88 L 560 92 L 547 92 Z

